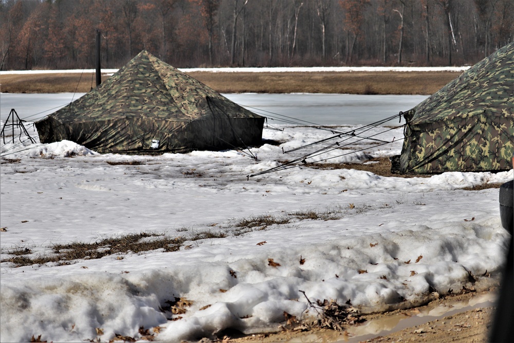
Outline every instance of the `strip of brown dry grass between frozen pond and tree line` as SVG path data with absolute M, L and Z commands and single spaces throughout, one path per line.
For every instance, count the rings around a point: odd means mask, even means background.
M 190 76 L 220 93 L 332 93 L 429 95 L 459 76 L 453 71 L 409 72 L 307 72 L 307 73 L 212 73 L 195 71 Z M 103 75 L 102 81 L 108 76 Z M 80 80 L 80 82 L 79 82 Z M 93 83 L 91 83 L 93 80 Z M 85 93 L 95 87 L 94 75 L 2 75 L 4 93 Z

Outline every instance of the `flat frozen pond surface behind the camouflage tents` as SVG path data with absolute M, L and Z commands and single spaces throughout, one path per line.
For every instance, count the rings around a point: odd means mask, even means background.
M 84 93 L 0 95 L 0 117 L 5 121 L 11 109 L 21 119 L 37 121 L 57 111 Z M 304 120 L 320 125 L 369 124 L 408 111 L 426 95 L 352 95 L 352 94 L 224 94 L 230 100 L 263 116 Z

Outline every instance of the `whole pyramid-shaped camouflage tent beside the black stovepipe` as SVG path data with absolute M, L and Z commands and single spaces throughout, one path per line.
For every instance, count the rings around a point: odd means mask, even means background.
M 43 143 L 67 139 L 101 153 L 182 153 L 259 145 L 264 119 L 141 51 L 35 125 Z

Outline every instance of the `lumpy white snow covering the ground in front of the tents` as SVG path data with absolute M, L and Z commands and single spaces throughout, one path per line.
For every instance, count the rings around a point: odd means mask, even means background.
M 29 258 L 49 257 L 57 244 L 141 232 L 186 241 L 174 252 L 69 265 L 1 263 L 0 340 L 143 341 L 144 330 L 155 341 L 198 340 L 228 328 L 278 330 L 284 312 L 315 316 L 306 297 L 375 312 L 497 284 L 509 239 L 499 191 L 463 188 L 506 182 L 512 170 L 402 178 L 299 166 L 247 177 L 319 148 L 283 154 L 282 147 L 333 135 L 274 126 L 283 131 L 265 129 L 263 138 L 281 144 L 250 149 L 258 160 L 233 150 L 143 156 L 98 154 L 70 141 L 3 145 L 2 259 L 25 248 Z M 352 150 L 321 163 L 368 163 L 401 150 L 401 128 L 366 134 L 396 140 L 352 138 Z M 276 223 L 241 226 L 265 217 Z M 196 239 L 205 232 L 218 238 Z M 176 298 L 185 313 L 169 311 Z

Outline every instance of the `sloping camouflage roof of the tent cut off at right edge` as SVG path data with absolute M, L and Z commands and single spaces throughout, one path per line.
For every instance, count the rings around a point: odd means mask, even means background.
M 407 121 L 458 120 L 487 113 L 514 116 L 514 42 L 476 63 L 406 114 Z

